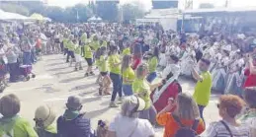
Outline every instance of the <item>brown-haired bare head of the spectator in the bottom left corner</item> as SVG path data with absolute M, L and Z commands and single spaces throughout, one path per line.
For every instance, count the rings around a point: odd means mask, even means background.
M 20 112 L 21 103 L 17 96 L 11 94 L 0 99 L 0 113 L 4 117 L 13 117 Z

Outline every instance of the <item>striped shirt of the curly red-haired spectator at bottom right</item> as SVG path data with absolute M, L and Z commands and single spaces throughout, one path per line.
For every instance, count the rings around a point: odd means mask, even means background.
M 240 126 L 232 126 L 227 122 L 225 123 L 231 130 L 233 137 L 249 137 L 249 127 L 245 124 L 241 124 Z M 220 121 L 211 123 L 206 134 L 206 137 L 231 137 L 230 133 Z

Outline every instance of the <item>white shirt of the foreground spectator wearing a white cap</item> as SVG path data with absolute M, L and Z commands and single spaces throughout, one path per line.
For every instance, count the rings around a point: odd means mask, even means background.
M 121 114 L 113 119 L 109 130 L 116 132 L 117 137 L 149 137 L 154 135 L 154 129 L 148 120 L 129 118 Z

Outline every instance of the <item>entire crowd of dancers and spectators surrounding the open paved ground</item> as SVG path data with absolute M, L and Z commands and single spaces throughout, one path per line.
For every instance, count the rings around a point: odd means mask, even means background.
M 81 111 L 80 99 L 69 97 L 56 127 L 52 126 L 56 117 L 52 108 L 43 105 L 35 112 L 33 128 L 18 115 L 18 97 L 7 95 L 0 99 L 1 136 L 153 137 L 157 126 L 164 126 L 164 137 L 193 137 L 203 132 L 207 137 L 256 136 L 253 34 L 178 34 L 159 26 L 118 24 L 43 24 L 6 34 L 3 59 L 15 47 L 26 65 L 35 63 L 41 54 L 62 53 L 70 67 L 74 63 L 74 71 L 86 67 L 85 79 L 96 75 L 93 68 L 97 68 L 99 96 L 111 95 L 109 106 L 122 106 L 111 122 L 99 120 L 94 131 Z M 19 64 L 18 52 L 13 52 Z M 87 66 L 82 66 L 83 60 Z M 10 76 L 14 72 L 10 69 Z M 193 96 L 182 90 L 179 76 L 197 81 Z M 216 104 L 221 120 L 206 127 L 204 109 L 212 91 L 223 94 Z

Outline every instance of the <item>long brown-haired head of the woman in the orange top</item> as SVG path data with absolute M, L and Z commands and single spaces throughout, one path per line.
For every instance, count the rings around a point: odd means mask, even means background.
M 176 114 L 182 119 L 197 119 L 200 117 L 199 108 L 191 95 L 181 93 L 177 96 Z

